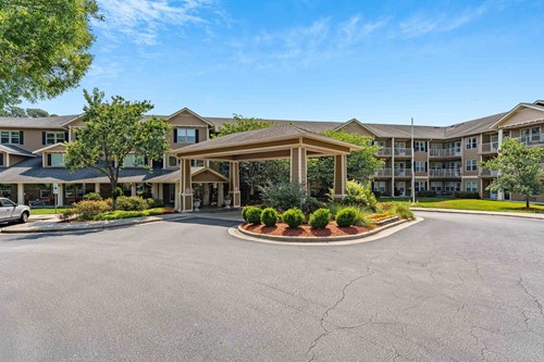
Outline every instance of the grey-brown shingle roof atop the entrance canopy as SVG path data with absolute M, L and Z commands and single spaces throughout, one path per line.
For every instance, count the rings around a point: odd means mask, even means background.
M 292 124 L 281 124 L 268 128 L 242 132 L 237 134 L 226 135 L 223 137 L 212 138 L 201 143 L 195 143 L 183 147 L 181 149 L 174 150 L 174 152 L 184 153 L 194 151 L 206 151 L 230 146 L 251 145 L 251 143 L 259 143 L 260 141 L 275 141 L 290 137 L 305 137 L 305 136 L 321 139 L 323 141 L 332 142 L 335 145 L 347 146 L 353 149 L 359 148 L 358 146 L 346 143 L 330 137 L 325 137 Z

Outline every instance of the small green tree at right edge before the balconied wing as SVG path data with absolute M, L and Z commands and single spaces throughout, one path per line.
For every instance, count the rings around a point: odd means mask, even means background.
M 527 147 L 512 138 L 505 138 L 498 155 L 485 162 L 480 162 L 480 167 L 498 171 L 487 190 L 511 191 L 526 197 L 526 208 L 529 209 L 531 195 L 539 195 L 544 190 L 542 176 L 544 166 L 541 159 L 544 158 L 544 149 Z

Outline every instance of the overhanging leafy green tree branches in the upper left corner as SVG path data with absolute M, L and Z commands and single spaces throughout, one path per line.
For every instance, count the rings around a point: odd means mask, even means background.
M 96 0 L 0 0 L 0 109 L 59 96 L 90 66 Z

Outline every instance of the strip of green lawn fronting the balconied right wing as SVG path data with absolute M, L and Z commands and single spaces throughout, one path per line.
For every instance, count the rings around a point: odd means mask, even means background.
M 544 213 L 543 204 L 531 204 L 531 209 L 526 209 L 524 202 L 495 201 L 495 200 L 474 200 L 474 199 L 445 199 L 445 198 L 417 198 L 418 202 L 413 204 L 419 208 L 435 209 L 456 209 L 456 210 L 478 210 L 478 211 L 503 211 L 503 212 L 529 212 Z M 408 202 L 409 199 L 380 198 L 380 201 L 401 201 Z

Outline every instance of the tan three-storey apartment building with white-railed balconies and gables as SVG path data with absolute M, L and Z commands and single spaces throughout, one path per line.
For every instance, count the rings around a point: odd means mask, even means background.
M 168 135 L 172 150 L 202 142 L 217 133 L 230 117 L 206 117 L 184 108 L 163 116 L 173 126 Z M 482 198 L 521 200 L 518 195 L 497 195 L 485 190 L 496 174 L 478 166 L 481 160 L 497 154 L 505 137 L 514 137 L 529 146 L 544 146 L 544 101 L 519 103 L 512 110 L 446 127 L 415 126 L 411 143 L 409 125 L 347 122 L 263 120 L 277 124 L 292 123 L 321 133 L 327 129 L 358 133 L 374 138 L 382 148 L 378 157 L 384 166 L 373 180 L 383 195 L 408 196 L 411 177 L 415 189 L 437 194 L 474 191 Z M 90 191 L 110 195 L 108 179 L 94 170 L 70 172 L 64 166 L 65 142 L 74 139 L 82 127 L 81 115 L 44 118 L 0 117 L 0 192 L 18 203 L 42 200 L 46 204 L 69 204 Z M 413 152 L 413 167 L 411 158 Z M 132 154 L 123 160 L 120 182 L 125 195 L 147 195 L 178 204 L 178 160 L 164 154 L 162 160 L 146 160 Z M 143 168 L 152 167 L 152 172 Z M 206 162 L 193 163 L 193 185 L 202 203 L 222 205 L 227 178 Z M 53 185 L 58 186 L 57 201 Z M 535 196 L 544 201 L 544 195 Z

